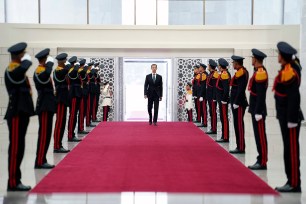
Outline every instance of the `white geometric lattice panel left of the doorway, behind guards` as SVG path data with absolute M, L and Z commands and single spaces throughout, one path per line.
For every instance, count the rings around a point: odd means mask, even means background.
M 114 93 L 114 81 L 115 81 L 115 58 L 90 58 L 91 62 L 100 62 L 100 77 L 101 82 L 109 82 L 111 91 Z M 102 86 L 101 86 L 102 91 Z M 112 98 L 112 106 L 110 108 L 110 112 L 108 114 L 108 120 L 113 121 L 114 120 L 114 95 Z M 100 102 L 99 102 L 99 108 L 98 108 L 98 114 L 97 118 L 102 119 L 103 117 L 103 109 L 102 109 L 102 95 L 100 95 Z

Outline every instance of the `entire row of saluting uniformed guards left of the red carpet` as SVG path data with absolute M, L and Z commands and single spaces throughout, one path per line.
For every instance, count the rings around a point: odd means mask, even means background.
M 37 102 L 34 109 L 32 89 L 26 72 L 32 65 L 31 57 L 26 53 L 27 44 L 22 42 L 11 46 L 11 62 L 5 70 L 5 85 L 9 94 L 9 104 L 5 114 L 9 128 L 8 152 L 8 191 L 28 191 L 30 186 L 21 182 L 20 165 L 24 156 L 25 136 L 29 118 L 35 114 L 39 119 L 35 169 L 51 169 L 46 155 L 52 137 L 53 115 L 56 113 L 54 128 L 54 153 L 67 153 L 62 145 L 65 132 L 67 108 L 68 141 L 80 142 L 75 135 L 78 121 L 78 134 L 87 134 L 87 127 L 95 127 L 100 98 L 99 63 L 86 64 L 85 59 L 78 61 L 73 56 L 61 53 L 56 56 L 58 66 L 53 70 L 54 59 L 49 56 L 50 49 L 44 49 L 35 55 L 39 65 L 34 71 L 33 80 L 37 90 Z M 52 75 L 53 71 L 53 76 Z M 108 89 L 106 95 L 109 96 Z M 106 106 L 110 106 L 106 102 Z M 108 114 L 108 109 L 104 110 Z M 107 116 L 106 117 L 107 120 Z

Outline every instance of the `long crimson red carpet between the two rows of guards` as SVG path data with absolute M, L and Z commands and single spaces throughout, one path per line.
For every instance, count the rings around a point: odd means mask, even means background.
M 31 192 L 277 194 L 192 123 L 100 123 Z

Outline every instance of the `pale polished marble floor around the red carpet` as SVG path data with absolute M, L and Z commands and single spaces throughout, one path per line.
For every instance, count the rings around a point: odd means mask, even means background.
M 275 118 L 267 118 L 267 137 L 269 148 L 269 161 L 267 171 L 254 171 L 261 179 L 266 181 L 271 187 L 283 185 L 286 182 L 284 173 L 284 164 L 282 159 L 282 140 L 278 122 Z M 243 164 L 251 165 L 255 162 L 257 153 L 251 120 L 248 114 L 245 116 L 246 129 L 246 154 L 234 155 Z M 202 128 L 203 131 L 206 128 Z M 36 154 L 38 121 L 37 117 L 31 118 L 26 137 L 26 151 L 22 162 L 22 182 L 27 185 L 35 186 L 49 170 L 34 170 L 34 160 Z M 220 195 L 220 194 L 173 194 L 163 192 L 122 192 L 113 194 L 48 194 L 32 195 L 21 192 L 6 192 L 7 185 L 7 149 L 8 149 L 8 130 L 5 121 L 0 120 L 0 204 L 1 203 L 111 203 L 111 204 L 206 204 L 206 203 L 224 203 L 224 204 L 288 204 L 304 203 L 306 204 L 306 125 L 302 126 L 300 133 L 300 160 L 302 174 L 303 193 L 287 193 L 278 197 L 273 196 L 251 196 L 251 195 Z M 218 136 L 212 136 L 216 139 Z M 77 143 L 68 143 L 64 137 L 64 146 L 72 149 Z M 233 127 L 231 127 L 230 144 L 221 144 L 225 149 L 235 148 L 235 139 Z M 49 163 L 58 164 L 65 154 L 53 154 L 53 139 L 51 140 L 47 159 Z

